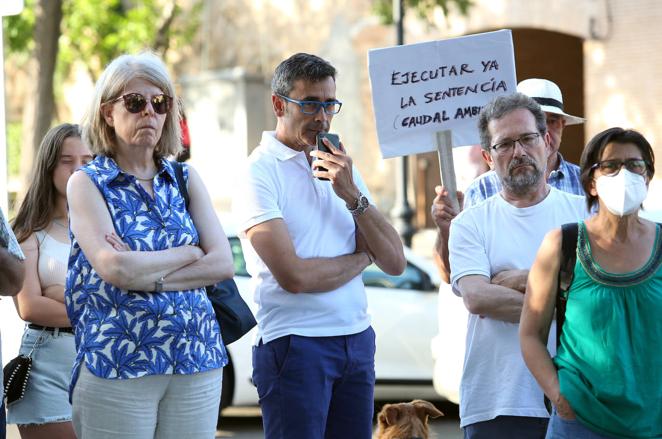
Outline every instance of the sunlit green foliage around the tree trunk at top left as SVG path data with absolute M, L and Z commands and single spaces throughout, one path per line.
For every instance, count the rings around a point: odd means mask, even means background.
M 175 0 L 63 0 L 59 75 L 66 78 L 71 66 L 80 61 L 96 80 L 103 68 L 122 53 L 152 49 L 164 55 L 173 43 L 189 43 L 199 27 L 201 0 L 194 1 L 186 11 L 175 3 Z M 36 0 L 25 0 L 20 15 L 3 20 L 5 47 L 10 55 L 29 54 L 34 47 L 35 4 Z

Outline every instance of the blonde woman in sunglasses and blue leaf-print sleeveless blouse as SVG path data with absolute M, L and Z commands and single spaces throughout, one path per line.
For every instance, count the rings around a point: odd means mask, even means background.
M 97 154 L 69 183 L 67 311 L 81 437 L 213 438 L 227 363 L 204 286 L 233 275 L 211 200 L 183 166 L 178 99 L 155 55 L 123 55 L 96 84 L 83 137 Z

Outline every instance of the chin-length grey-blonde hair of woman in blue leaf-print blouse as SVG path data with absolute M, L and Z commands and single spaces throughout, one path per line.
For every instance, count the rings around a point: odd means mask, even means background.
M 175 86 L 161 59 L 151 52 L 137 55 L 120 55 L 103 71 L 97 80 L 92 102 L 83 119 L 83 141 L 92 153 L 112 157 L 117 147 L 115 129 L 106 123 L 101 105 L 117 99 L 132 79 L 144 79 L 172 97 L 172 106 L 166 114 L 161 138 L 154 149 L 156 158 L 176 154 L 181 149 L 182 135 L 179 126 L 179 103 Z

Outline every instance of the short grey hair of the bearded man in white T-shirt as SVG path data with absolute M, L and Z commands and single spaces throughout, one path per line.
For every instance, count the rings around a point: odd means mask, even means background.
M 536 120 L 536 128 L 541 135 L 547 133 L 547 119 L 540 105 L 530 97 L 522 93 L 513 93 L 506 96 L 497 96 L 483 107 L 478 116 L 478 132 L 480 133 L 480 145 L 489 152 L 492 146 L 492 135 L 488 129 L 490 121 L 501 119 L 508 113 L 523 108 L 529 110 Z

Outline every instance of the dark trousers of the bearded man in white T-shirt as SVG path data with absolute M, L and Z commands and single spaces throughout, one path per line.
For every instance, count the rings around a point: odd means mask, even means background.
M 464 439 L 544 439 L 547 418 L 497 416 L 464 427 Z

